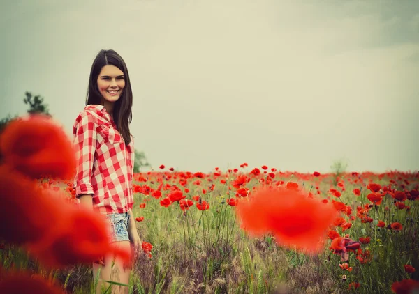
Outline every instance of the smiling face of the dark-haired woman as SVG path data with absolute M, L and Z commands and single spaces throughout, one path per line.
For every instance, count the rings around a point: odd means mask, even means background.
M 103 103 L 113 104 L 121 97 L 125 87 L 124 72 L 115 65 L 105 65 L 98 75 L 98 90 L 103 97 Z

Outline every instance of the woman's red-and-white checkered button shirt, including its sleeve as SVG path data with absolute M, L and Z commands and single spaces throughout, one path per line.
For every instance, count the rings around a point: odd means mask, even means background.
M 101 215 L 133 208 L 133 137 L 128 146 L 103 105 L 87 105 L 73 125 L 78 164 L 73 187 L 77 195 L 93 194 Z

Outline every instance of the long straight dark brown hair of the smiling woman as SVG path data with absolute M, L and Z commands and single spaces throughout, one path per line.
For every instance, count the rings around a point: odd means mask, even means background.
M 89 88 L 87 88 L 86 105 L 102 103 L 102 95 L 98 90 L 98 75 L 101 73 L 103 66 L 114 65 L 124 72 L 125 86 L 121 93 L 121 97 L 115 102 L 113 108 L 113 119 L 117 125 L 118 131 L 124 138 L 125 144 L 131 142 L 131 133 L 129 132 L 129 123 L 132 121 L 132 105 L 133 91 L 131 90 L 131 82 L 129 81 L 128 69 L 124 59 L 122 59 L 114 50 L 102 49 L 91 65 Z

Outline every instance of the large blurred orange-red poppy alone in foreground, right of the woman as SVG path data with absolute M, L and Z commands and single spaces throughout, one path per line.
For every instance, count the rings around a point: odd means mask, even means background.
M 319 199 L 280 187 L 259 189 L 236 211 L 250 235 L 273 233 L 279 245 L 305 252 L 321 251 L 318 241 L 337 215 L 335 208 Z

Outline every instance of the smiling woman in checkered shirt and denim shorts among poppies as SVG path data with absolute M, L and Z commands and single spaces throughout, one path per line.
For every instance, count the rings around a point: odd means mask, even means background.
M 86 107 L 73 125 L 78 169 L 73 186 L 80 206 L 94 209 L 109 224 L 115 246 L 138 251 L 140 238 L 133 208 L 133 137 L 129 132 L 133 94 L 126 64 L 117 52 L 101 50 L 91 66 Z M 93 265 L 99 278 L 96 293 L 108 283 L 128 284 L 131 271 L 119 258 L 103 256 Z M 128 293 L 126 286 L 112 286 L 112 293 Z

